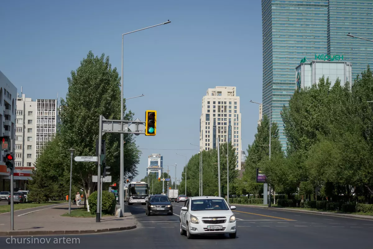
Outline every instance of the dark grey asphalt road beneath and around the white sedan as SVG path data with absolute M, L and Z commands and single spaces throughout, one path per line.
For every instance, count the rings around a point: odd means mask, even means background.
M 174 215 L 146 216 L 145 206 L 129 206 L 138 221 L 134 230 L 87 234 L 79 236 L 33 236 L 32 239 L 51 239 L 49 244 L 29 243 L 27 248 L 286 248 L 286 249 L 371 249 L 373 221 L 301 214 L 251 207 L 237 207 L 237 238 L 200 236 L 188 240 L 179 233 L 179 213 L 182 203 L 174 205 Z M 63 243 L 63 237 L 79 239 L 79 244 Z M 16 237 L 26 239 L 27 237 Z M 30 238 L 30 237 L 29 237 Z M 6 241 L 6 239 L 8 239 Z M 57 239 L 57 240 L 56 240 Z M 58 239 L 60 239 L 58 241 Z M 24 248 L 9 237 L 0 237 L 0 247 Z M 26 240 L 27 242 L 27 240 Z M 54 242 L 60 242 L 54 244 Z

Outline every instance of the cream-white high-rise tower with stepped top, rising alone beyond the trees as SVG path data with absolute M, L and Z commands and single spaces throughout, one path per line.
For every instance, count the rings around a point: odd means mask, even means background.
M 236 169 L 241 170 L 241 113 L 235 86 L 209 88 L 202 98 L 200 146 L 210 150 L 216 142 L 231 142 L 236 149 Z

